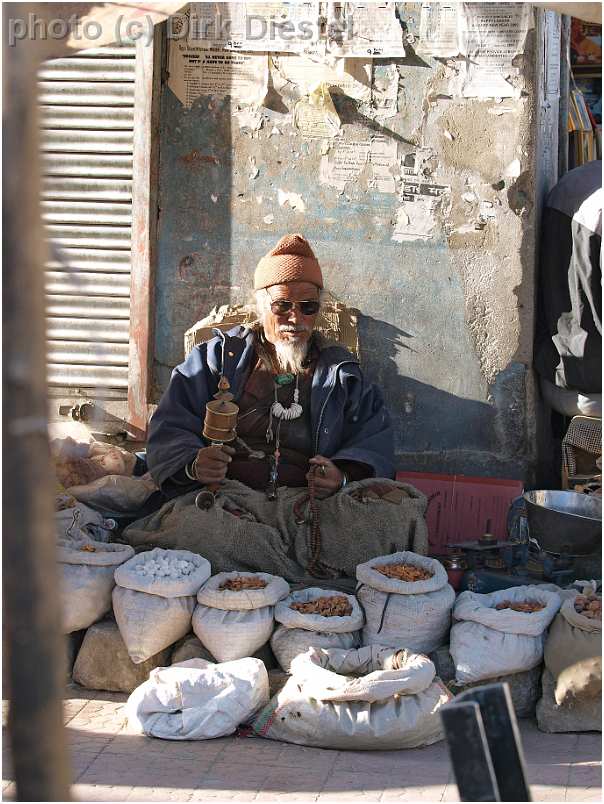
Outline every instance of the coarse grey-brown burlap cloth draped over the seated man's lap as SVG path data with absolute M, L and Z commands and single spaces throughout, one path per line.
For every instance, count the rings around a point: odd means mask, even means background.
M 334 575 L 353 578 L 357 564 L 376 555 L 413 549 L 425 554 L 427 500 L 412 486 L 380 479 L 407 493 L 400 504 L 383 499 L 359 502 L 355 491 L 371 488 L 370 478 L 319 500 L 321 562 Z M 195 506 L 196 492 L 166 503 L 130 525 L 123 534 L 133 547 L 181 548 L 207 558 L 215 572 L 268 572 L 296 582 L 308 576 L 311 561 L 306 489 L 279 489 L 277 500 L 235 480 L 225 481 L 209 511 Z M 296 513 L 294 508 L 298 511 Z

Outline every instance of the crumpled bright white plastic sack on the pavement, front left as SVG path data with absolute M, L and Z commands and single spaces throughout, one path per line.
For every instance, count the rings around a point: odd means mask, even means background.
M 213 664 L 189 659 L 157 667 L 128 698 L 130 727 L 164 740 L 209 740 L 233 734 L 269 699 L 260 659 Z

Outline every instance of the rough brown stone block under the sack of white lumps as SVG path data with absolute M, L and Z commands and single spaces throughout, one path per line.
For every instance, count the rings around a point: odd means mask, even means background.
M 134 664 L 114 620 L 102 620 L 86 631 L 78 653 L 73 680 L 90 690 L 132 692 L 147 681 L 155 667 L 170 664 L 171 649 Z

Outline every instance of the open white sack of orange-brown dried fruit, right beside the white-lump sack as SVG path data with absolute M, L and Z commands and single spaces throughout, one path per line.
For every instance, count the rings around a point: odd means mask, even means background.
M 220 572 L 197 593 L 193 631 L 219 662 L 253 656 L 275 626 L 275 604 L 289 584 L 266 572 Z

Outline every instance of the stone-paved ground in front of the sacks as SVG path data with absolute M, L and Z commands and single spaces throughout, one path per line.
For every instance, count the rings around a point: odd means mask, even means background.
M 459 801 L 444 743 L 326 751 L 259 738 L 168 742 L 128 733 L 125 695 L 70 686 L 65 720 L 80 801 Z M 522 720 L 533 801 L 600 801 L 601 735 L 543 734 Z M 6 740 L 4 800 L 14 797 Z

